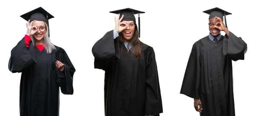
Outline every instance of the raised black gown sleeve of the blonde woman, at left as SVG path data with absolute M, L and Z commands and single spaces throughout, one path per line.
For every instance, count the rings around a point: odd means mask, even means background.
M 11 51 L 11 57 L 8 64 L 9 71 L 12 73 L 23 72 L 29 66 L 34 64 L 36 64 L 36 59 L 32 41 L 30 41 L 29 48 L 27 48 L 23 38 Z

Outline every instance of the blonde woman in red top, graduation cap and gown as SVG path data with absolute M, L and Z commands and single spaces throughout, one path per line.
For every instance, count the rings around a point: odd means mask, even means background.
M 20 17 L 28 30 L 9 60 L 9 70 L 21 72 L 20 116 L 59 116 L 59 88 L 73 94 L 76 70 L 65 50 L 50 41 L 51 14 L 39 7 Z

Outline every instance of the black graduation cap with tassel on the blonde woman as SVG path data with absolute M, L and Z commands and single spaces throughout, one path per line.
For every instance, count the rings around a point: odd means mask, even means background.
M 49 14 L 42 7 L 36 8 L 32 11 L 29 11 L 26 14 L 21 15 L 20 17 L 22 17 L 26 21 L 29 21 L 29 19 L 30 19 L 30 22 L 32 22 L 33 20 L 44 21 L 47 23 L 48 29 L 49 29 L 49 21 L 48 20 L 51 18 L 54 18 L 51 14 Z M 50 36 L 50 31 L 48 33 L 48 36 Z

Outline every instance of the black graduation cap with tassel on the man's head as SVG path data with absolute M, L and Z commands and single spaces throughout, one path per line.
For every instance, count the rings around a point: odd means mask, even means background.
M 203 11 L 203 12 L 210 15 L 209 19 L 214 18 L 214 17 L 220 17 L 223 21 L 223 16 L 224 16 L 225 17 L 225 26 L 227 28 L 226 15 L 229 15 L 231 13 L 229 13 L 227 11 L 224 11 L 221 8 L 218 8 L 218 7 L 212 8 L 212 9 L 209 9 L 209 10 L 206 10 L 206 11 Z

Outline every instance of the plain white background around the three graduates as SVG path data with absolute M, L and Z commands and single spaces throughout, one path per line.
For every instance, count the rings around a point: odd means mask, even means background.
M 19 116 L 21 74 L 10 72 L 8 61 L 12 48 L 26 34 L 26 21 L 20 15 L 40 6 L 55 17 L 49 20 L 52 43 L 66 50 L 76 68 L 74 94 L 61 94 L 60 116 L 104 116 L 104 71 L 94 69 L 91 49 L 115 27 L 116 15 L 109 11 L 128 7 L 145 11 L 140 14 L 140 40 L 156 53 L 163 99 L 161 116 L 199 116 L 193 99 L 179 94 L 192 44 L 209 34 L 209 15 L 203 11 L 219 7 L 231 12 L 228 28 L 248 46 L 245 60 L 233 62 L 236 116 L 253 116 L 256 7 L 248 1 L 253 0 L 1 0 L 0 116 Z

